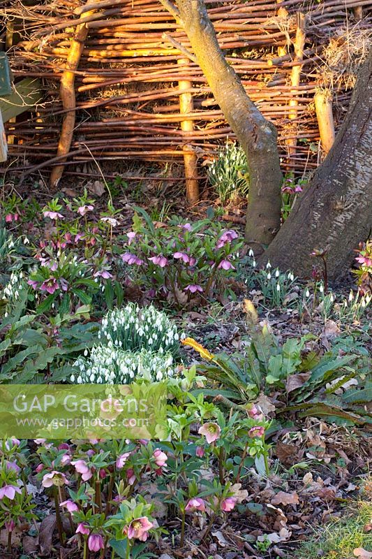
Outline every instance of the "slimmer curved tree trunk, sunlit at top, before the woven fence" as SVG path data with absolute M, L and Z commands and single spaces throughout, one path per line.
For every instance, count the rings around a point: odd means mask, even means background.
M 204 0 L 161 0 L 184 28 L 225 119 L 235 132 L 248 160 L 249 204 L 246 240 L 262 252 L 278 232 L 282 174 L 276 129 L 249 99 L 234 69 L 218 45 Z

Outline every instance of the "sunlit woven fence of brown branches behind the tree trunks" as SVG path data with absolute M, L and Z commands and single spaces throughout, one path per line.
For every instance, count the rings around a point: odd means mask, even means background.
M 326 82 L 325 53 L 329 60 L 332 45 L 348 48 L 346 30 L 370 41 L 372 0 L 206 3 L 229 63 L 278 129 L 283 169 L 312 170 L 322 157 L 315 93 L 332 89 L 336 127 L 350 99 L 347 80 Z M 213 157 L 234 137 L 186 35 L 159 1 L 17 0 L 2 2 L 1 12 L 15 82 L 43 83 L 38 106 L 6 125 L 13 172 L 54 167 L 55 187 L 62 170 L 83 174 L 93 158 L 181 158 L 195 180 L 195 159 Z

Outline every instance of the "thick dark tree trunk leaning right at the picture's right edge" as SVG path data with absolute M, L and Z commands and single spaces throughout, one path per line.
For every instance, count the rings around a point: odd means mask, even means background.
M 359 69 L 348 115 L 332 149 L 315 171 L 290 217 L 260 259 L 263 264 L 311 273 L 314 249 L 327 252 L 329 279 L 348 269 L 353 250 L 372 226 L 372 51 Z

